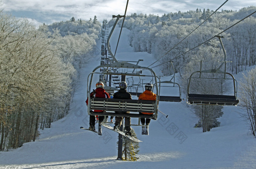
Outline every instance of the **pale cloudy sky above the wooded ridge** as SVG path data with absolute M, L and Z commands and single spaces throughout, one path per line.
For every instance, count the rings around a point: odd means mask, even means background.
M 42 23 L 70 20 L 89 20 L 97 16 L 101 22 L 110 20 L 112 15 L 124 15 L 127 0 L 1 0 L 0 8 L 17 18 L 29 18 L 37 25 Z M 155 14 L 186 12 L 189 10 L 216 10 L 225 0 L 130 0 L 127 15 L 132 13 Z M 222 6 L 223 10 L 240 10 L 255 6 L 256 0 L 229 0 Z

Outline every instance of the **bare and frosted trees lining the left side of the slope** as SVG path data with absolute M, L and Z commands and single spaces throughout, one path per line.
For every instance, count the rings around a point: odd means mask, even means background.
M 39 126 L 68 113 L 79 68 L 100 33 L 92 20 L 35 28 L 0 11 L 0 151 L 35 140 Z

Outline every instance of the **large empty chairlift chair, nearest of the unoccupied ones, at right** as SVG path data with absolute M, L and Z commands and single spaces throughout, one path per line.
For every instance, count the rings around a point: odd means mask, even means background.
M 216 36 L 216 37 L 219 38 L 219 42 L 221 43 L 222 50 L 225 56 L 224 61 L 217 69 L 209 69 L 209 70 L 203 70 L 203 71 L 202 71 L 202 61 L 200 62 L 200 71 L 193 72 L 190 78 L 188 78 L 187 99 L 186 99 L 188 104 L 236 106 L 239 103 L 239 99 L 237 98 L 237 81 L 235 80 L 234 76 L 232 76 L 232 74 L 226 72 L 226 64 L 227 64 L 226 52 L 221 40 L 221 38 L 223 37 L 221 36 Z M 223 65 L 225 65 L 224 71 L 221 71 L 220 69 L 222 68 Z M 199 75 L 199 76 L 196 76 L 196 75 Z M 229 78 L 227 76 L 229 76 Z M 205 86 L 205 85 L 201 86 L 204 88 L 204 91 L 206 91 L 207 88 L 209 90 L 211 89 L 210 88 L 211 83 L 218 85 L 216 91 L 213 92 L 214 94 L 212 94 L 211 92 L 205 92 L 205 93 L 192 92 L 191 93 L 191 83 L 193 83 L 192 86 L 194 88 L 197 88 L 200 85 L 200 82 L 202 80 L 207 81 L 207 83 L 209 84 L 209 86 Z M 196 81 L 198 83 L 196 83 Z M 228 84 L 227 81 L 231 81 L 231 84 Z M 230 87 L 229 85 L 232 87 Z M 233 93 L 225 94 L 227 93 L 227 90 L 228 90 L 227 88 L 229 90 L 233 90 Z M 200 91 L 200 89 L 197 91 Z

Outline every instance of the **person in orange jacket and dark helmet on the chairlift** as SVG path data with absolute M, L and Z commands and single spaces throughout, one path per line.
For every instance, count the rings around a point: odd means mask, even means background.
M 151 83 L 145 84 L 145 91 L 138 97 L 139 100 L 156 100 L 157 95 L 152 92 L 153 85 Z M 139 114 L 153 114 L 141 112 Z M 142 131 L 141 134 L 149 135 L 149 123 L 151 119 L 141 118 Z M 146 121 L 146 126 L 145 126 Z

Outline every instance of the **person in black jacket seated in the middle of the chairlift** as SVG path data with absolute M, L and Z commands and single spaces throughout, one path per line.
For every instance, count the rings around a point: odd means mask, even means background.
M 121 99 L 132 99 L 131 94 L 126 91 L 127 84 L 125 81 L 122 81 L 119 83 L 120 90 L 114 93 L 113 98 L 121 98 Z M 128 111 L 115 111 L 117 114 L 128 114 L 130 112 Z M 115 126 L 114 130 L 118 130 L 120 127 L 120 124 L 123 121 L 123 117 L 115 117 Z M 131 136 L 131 118 L 125 117 L 125 134 Z

